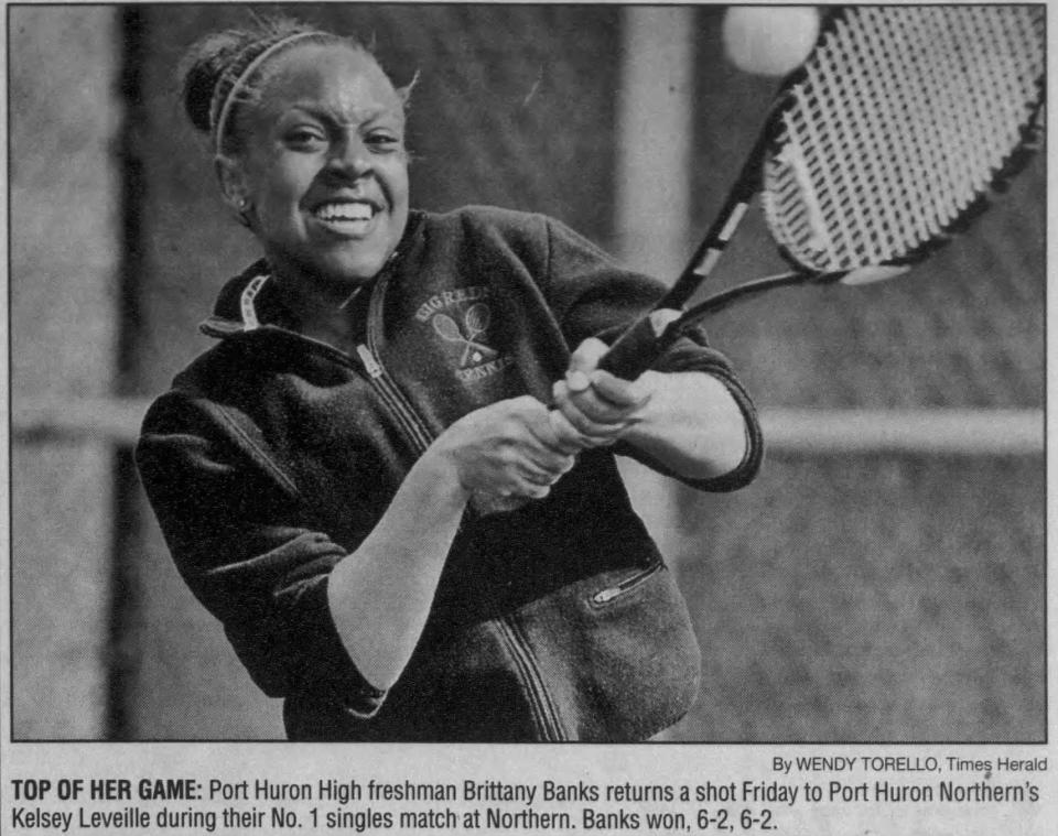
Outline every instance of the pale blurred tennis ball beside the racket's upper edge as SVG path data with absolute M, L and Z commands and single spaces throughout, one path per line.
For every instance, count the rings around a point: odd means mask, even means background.
M 785 76 L 818 36 L 819 12 L 811 6 L 735 6 L 724 15 L 724 51 L 746 73 Z

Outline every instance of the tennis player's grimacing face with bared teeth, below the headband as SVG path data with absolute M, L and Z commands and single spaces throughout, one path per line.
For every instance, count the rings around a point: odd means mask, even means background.
M 408 221 L 400 97 L 378 64 L 345 45 L 277 58 L 235 169 L 273 269 L 347 294 L 374 276 Z

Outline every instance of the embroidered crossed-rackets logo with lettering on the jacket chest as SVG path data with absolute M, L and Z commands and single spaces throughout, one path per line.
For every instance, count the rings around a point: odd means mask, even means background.
M 489 287 L 473 285 L 434 294 L 415 311 L 419 322 L 429 322 L 456 358 L 455 376 L 464 383 L 504 370 L 512 358 L 489 345 L 493 308 Z

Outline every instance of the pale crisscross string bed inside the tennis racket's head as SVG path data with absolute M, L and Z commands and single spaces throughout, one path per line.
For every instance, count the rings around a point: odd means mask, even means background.
M 806 63 L 765 166 L 773 234 L 819 271 L 897 261 L 951 228 L 1039 106 L 1033 7 L 857 7 Z

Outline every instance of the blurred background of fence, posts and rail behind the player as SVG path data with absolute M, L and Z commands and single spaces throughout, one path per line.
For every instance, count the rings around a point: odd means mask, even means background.
M 255 257 L 175 96 L 184 50 L 249 9 L 8 8 L 15 739 L 282 736 L 130 454 Z M 287 11 L 375 42 L 398 84 L 419 73 L 415 205 L 546 213 L 662 278 L 777 84 L 725 57 L 719 7 Z M 734 495 L 626 470 L 703 650 L 668 739 L 1045 739 L 1044 162 L 908 276 L 710 324 L 769 446 Z M 747 220 L 715 286 L 773 251 Z

